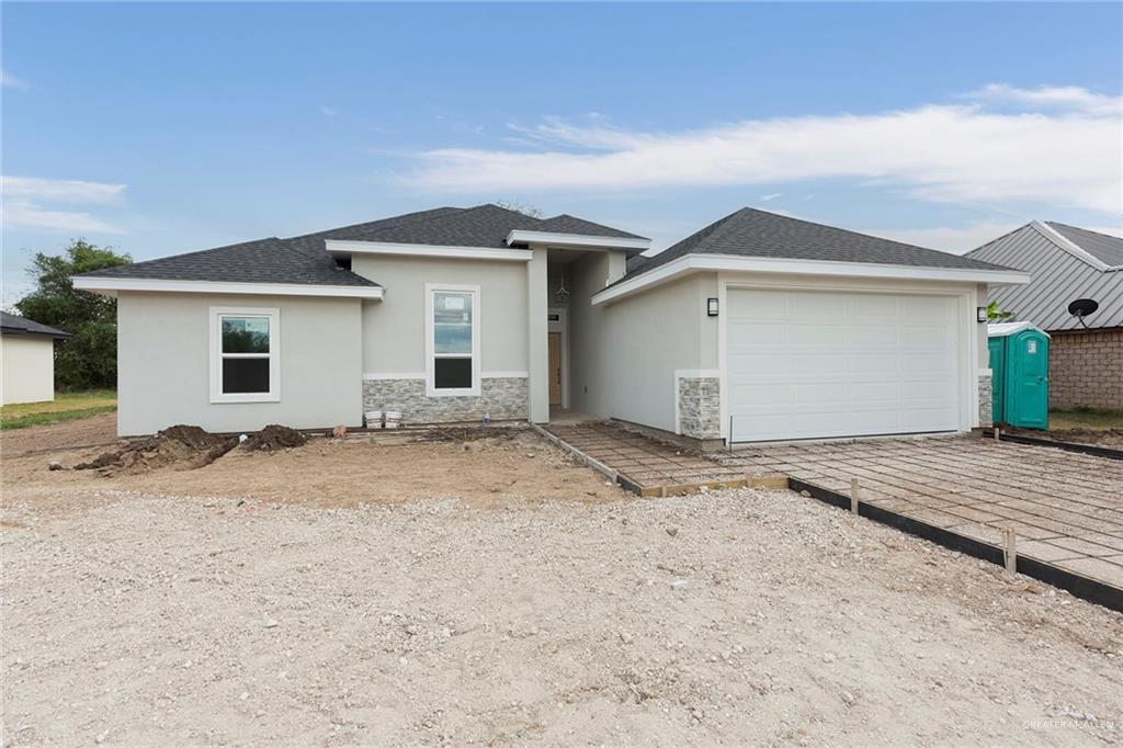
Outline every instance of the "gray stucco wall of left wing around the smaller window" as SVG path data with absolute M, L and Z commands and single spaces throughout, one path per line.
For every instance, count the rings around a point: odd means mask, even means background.
M 210 402 L 211 307 L 280 309 L 280 402 Z M 360 325 L 357 299 L 122 292 L 117 301 L 118 434 L 152 434 L 175 423 L 210 431 L 267 423 L 358 426 Z

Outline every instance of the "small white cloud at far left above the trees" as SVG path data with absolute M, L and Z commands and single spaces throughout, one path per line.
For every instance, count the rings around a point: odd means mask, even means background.
M 45 180 L 34 176 L 3 176 L 3 224 L 9 227 L 55 231 L 120 234 L 121 229 L 81 210 L 58 210 L 55 206 L 113 203 L 126 185 L 81 180 Z

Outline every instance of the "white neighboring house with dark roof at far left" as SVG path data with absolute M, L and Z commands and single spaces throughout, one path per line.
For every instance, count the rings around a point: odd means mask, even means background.
M 29 319 L 0 312 L 0 401 L 55 399 L 55 340 L 70 335 Z

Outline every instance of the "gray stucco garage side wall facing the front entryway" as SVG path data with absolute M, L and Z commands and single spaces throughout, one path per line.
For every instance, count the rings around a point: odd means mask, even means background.
M 716 319 L 705 316 L 715 280 L 695 275 L 593 307 L 588 300 L 604 288 L 609 262 L 590 255 L 572 268 L 570 402 L 591 416 L 674 432 L 676 372 L 718 366 Z

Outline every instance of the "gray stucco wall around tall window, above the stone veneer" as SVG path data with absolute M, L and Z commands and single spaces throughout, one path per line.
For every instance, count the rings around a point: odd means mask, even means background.
M 355 255 L 351 270 L 385 286 L 363 305 L 363 372 L 426 371 L 426 283 L 480 286 L 481 371 L 526 372 L 527 263 Z

